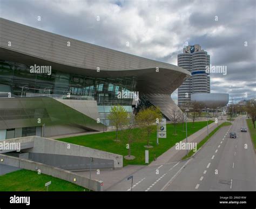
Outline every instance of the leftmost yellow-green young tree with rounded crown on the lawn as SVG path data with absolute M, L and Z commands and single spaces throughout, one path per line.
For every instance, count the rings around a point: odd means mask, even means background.
M 123 129 L 127 124 L 128 113 L 123 106 L 112 106 L 110 114 L 107 117 L 110 120 L 110 124 L 116 127 L 116 140 L 118 141 L 118 130 Z

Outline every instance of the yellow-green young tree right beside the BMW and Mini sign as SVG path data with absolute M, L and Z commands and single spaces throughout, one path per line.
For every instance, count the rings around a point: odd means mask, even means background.
M 160 119 L 161 117 L 160 109 L 154 106 L 140 110 L 136 116 L 136 122 L 147 135 L 148 148 L 152 147 L 149 145 L 150 134 L 156 130 L 156 125 L 153 124 L 156 123 L 157 118 Z

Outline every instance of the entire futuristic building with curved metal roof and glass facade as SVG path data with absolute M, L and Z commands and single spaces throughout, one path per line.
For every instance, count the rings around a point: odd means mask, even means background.
M 0 140 L 100 131 L 117 104 L 129 112 L 158 106 L 169 119 L 170 95 L 190 76 L 0 18 Z

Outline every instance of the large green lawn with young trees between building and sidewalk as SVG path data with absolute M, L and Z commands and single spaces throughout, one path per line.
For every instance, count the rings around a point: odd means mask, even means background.
M 213 121 L 209 120 L 209 124 L 213 123 Z M 190 136 L 194 132 L 202 129 L 207 125 L 207 122 L 195 122 L 194 127 L 192 127 L 192 122 L 187 123 L 187 134 Z M 145 150 L 149 150 L 149 160 L 150 162 L 154 160 L 154 154 L 156 157 L 163 154 L 165 151 L 169 150 L 172 146 L 174 146 L 180 140 L 186 138 L 186 132 L 183 132 L 183 125 L 177 125 L 177 135 L 174 135 L 174 126 L 172 124 L 167 124 L 167 138 L 160 138 L 159 145 L 157 145 L 157 133 L 153 132 L 150 136 L 150 145 L 153 146 L 150 149 L 146 149 L 144 145 L 146 145 L 146 137 L 143 137 L 140 129 L 136 129 L 136 136 L 134 143 L 131 145 L 131 155 L 136 158 L 133 160 L 124 159 L 124 165 L 145 165 Z M 185 130 L 185 123 L 184 123 Z M 93 149 L 103 150 L 107 152 L 112 152 L 116 154 L 120 154 L 122 156 L 127 156 L 128 150 L 126 149 L 127 138 L 119 132 L 120 141 L 114 141 L 116 136 L 116 132 L 105 132 L 105 133 L 96 133 L 96 134 L 87 134 L 84 136 L 76 136 L 69 138 L 57 139 L 60 141 L 65 141 L 71 144 L 77 144 L 82 146 L 91 147 Z

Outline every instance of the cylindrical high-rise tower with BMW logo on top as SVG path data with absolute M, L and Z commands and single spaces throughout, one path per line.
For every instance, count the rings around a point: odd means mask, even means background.
M 210 66 L 210 55 L 200 45 L 186 46 L 178 55 L 178 66 L 191 72 L 191 77 L 178 88 L 179 106 L 190 102 L 193 93 L 210 93 L 210 73 L 206 72 L 206 66 Z

